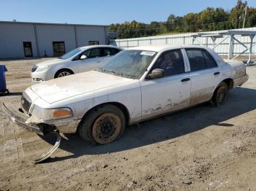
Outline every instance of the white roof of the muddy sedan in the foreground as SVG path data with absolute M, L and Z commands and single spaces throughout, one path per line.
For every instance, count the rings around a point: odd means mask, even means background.
M 203 47 L 200 45 L 163 44 L 163 45 L 150 45 L 150 46 L 143 46 L 143 47 L 130 47 L 130 48 L 127 48 L 127 50 L 146 50 L 146 51 L 160 52 L 162 50 L 172 50 L 172 49 L 177 49 L 177 48 L 198 48 L 198 47 L 207 49 L 206 47 Z

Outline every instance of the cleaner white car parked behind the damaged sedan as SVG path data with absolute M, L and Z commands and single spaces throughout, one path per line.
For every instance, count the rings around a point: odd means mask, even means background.
M 121 50 L 119 47 L 110 45 L 79 47 L 59 58 L 34 65 L 31 69 L 31 78 L 33 82 L 42 82 L 83 71 L 99 69 Z

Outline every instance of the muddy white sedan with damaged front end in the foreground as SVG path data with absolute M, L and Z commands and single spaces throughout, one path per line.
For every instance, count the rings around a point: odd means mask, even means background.
M 241 61 L 207 47 L 132 47 L 102 69 L 32 85 L 12 121 L 37 133 L 75 133 L 93 144 L 118 139 L 127 125 L 211 101 L 248 79 Z M 23 115 L 23 117 L 20 117 Z

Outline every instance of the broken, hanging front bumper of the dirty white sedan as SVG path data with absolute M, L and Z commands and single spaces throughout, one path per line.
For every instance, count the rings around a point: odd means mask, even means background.
M 58 130 L 54 130 L 51 128 L 45 127 L 45 125 L 36 125 L 36 124 L 28 124 L 26 121 L 29 119 L 29 117 L 26 117 L 25 114 L 23 114 L 20 110 L 20 112 L 16 111 L 12 108 L 12 106 L 6 106 L 3 104 L 4 111 L 10 116 L 10 120 L 12 122 L 15 122 L 18 126 L 21 128 L 26 128 L 27 130 L 31 130 L 34 133 L 37 133 L 41 136 L 44 136 L 46 133 L 52 133 L 53 136 L 56 136 L 56 143 L 53 145 L 53 147 L 45 154 L 42 154 L 37 160 L 35 160 L 35 163 L 41 163 L 44 160 L 47 160 L 50 155 L 53 155 L 53 152 L 56 151 L 56 149 L 59 148 L 59 145 L 61 143 L 61 136 L 59 135 Z

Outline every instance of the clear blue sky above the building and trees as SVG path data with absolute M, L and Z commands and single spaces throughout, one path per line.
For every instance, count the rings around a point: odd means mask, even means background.
M 206 7 L 231 9 L 236 0 L 8 0 L 1 1 L 0 20 L 109 25 L 137 20 L 165 21 Z M 256 0 L 248 0 L 256 7 Z

